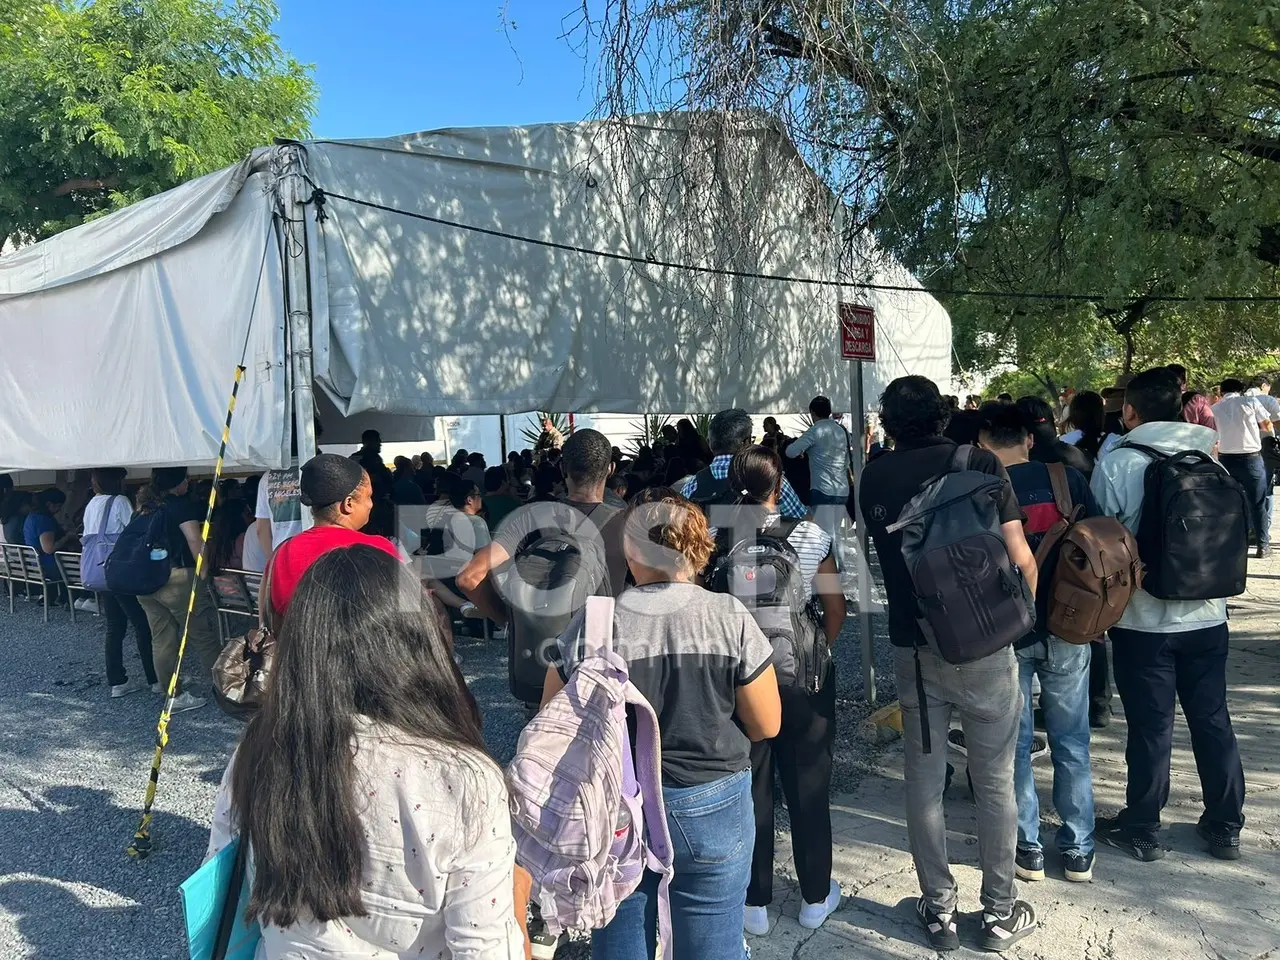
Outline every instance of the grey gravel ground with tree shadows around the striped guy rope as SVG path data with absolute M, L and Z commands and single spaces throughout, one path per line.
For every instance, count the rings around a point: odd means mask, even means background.
M 79 614 L 78 614 L 79 616 Z M 893 698 L 882 616 L 873 617 L 881 701 Z M 161 698 L 108 698 L 102 621 L 19 600 L 0 612 L 0 960 L 169 960 L 186 957 L 178 884 L 198 867 L 214 794 L 239 724 L 212 704 L 179 714 L 156 799 L 155 850 L 125 855 L 138 824 Z M 125 644 L 128 645 L 128 640 Z M 460 639 L 463 672 L 494 756 L 506 762 L 524 726 L 507 694 L 506 644 Z M 851 790 L 870 759 L 854 727 L 861 699 L 856 618 L 836 648 L 836 792 Z M 125 664 L 133 672 L 132 650 Z M 785 819 L 780 828 L 785 828 Z M 586 956 L 573 945 L 562 960 Z

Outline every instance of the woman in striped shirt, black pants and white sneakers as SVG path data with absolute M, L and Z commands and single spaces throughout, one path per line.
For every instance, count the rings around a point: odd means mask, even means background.
M 796 552 L 805 596 L 818 596 L 822 630 L 835 644 L 845 622 L 845 594 L 836 571 L 831 535 L 808 520 L 786 521 L 778 513 L 782 462 L 764 447 L 748 447 L 728 466 L 728 486 L 737 492 L 735 531 L 744 529 L 782 536 Z M 739 536 L 739 532 L 733 532 Z M 723 538 L 719 543 L 726 545 Z M 765 908 L 773 902 L 773 782 L 774 771 L 791 812 L 791 844 L 804 904 L 800 925 L 815 929 L 840 906 L 840 884 L 831 878 L 831 763 L 836 744 L 836 664 L 827 669 L 822 689 L 808 694 L 780 687 L 782 730 L 772 740 L 751 745 L 751 796 L 755 806 L 755 854 L 746 888 L 744 927 L 748 933 L 769 932 Z

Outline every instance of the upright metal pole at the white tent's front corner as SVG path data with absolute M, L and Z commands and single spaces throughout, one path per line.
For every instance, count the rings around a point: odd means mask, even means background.
M 311 244 L 306 223 L 308 207 L 302 179 L 302 147 L 292 145 L 284 178 L 284 269 L 289 275 L 289 355 L 293 362 L 293 422 L 298 431 L 298 463 L 316 454 L 315 396 L 311 367 Z

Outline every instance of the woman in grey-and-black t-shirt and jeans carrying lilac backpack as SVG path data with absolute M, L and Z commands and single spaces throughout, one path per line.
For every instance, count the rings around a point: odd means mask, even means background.
M 742 902 L 755 844 L 751 741 L 777 736 L 773 648 L 735 596 L 696 584 L 714 541 L 698 507 L 652 486 L 625 518 L 636 586 L 614 612 L 614 649 L 649 700 L 662 733 L 662 785 L 675 852 L 671 938 L 676 960 L 742 960 Z M 585 616 L 561 637 L 543 703 L 584 657 Z M 658 874 L 591 936 L 595 960 L 653 960 Z

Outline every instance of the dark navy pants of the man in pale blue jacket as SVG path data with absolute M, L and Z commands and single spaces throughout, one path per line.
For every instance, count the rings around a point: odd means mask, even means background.
M 1169 803 L 1175 698 L 1192 733 L 1202 819 L 1235 829 L 1244 824 L 1244 768 L 1226 709 L 1226 623 L 1184 634 L 1111 630 L 1116 690 L 1129 722 L 1129 785 L 1120 818 L 1130 829 L 1157 831 Z

